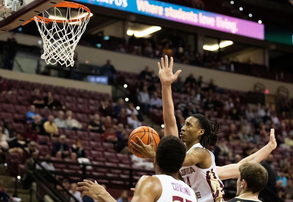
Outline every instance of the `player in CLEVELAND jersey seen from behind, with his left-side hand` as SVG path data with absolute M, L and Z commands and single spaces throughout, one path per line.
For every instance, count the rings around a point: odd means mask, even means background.
M 168 136 L 161 139 L 154 157 L 156 175 L 142 176 L 135 188 L 132 202 L 196 202 L 194 191 L 177 179 L 177 173 L 186 156 L 186 147 L 180 139 Z M 116 202 L 105 188 L 89 180 L 78 183 L 83 195 L 98 201 Z

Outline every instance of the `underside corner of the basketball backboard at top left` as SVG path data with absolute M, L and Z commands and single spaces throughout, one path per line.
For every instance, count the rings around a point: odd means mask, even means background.
M 59 2 L 62 0 L 0 0 L 0 35 Z

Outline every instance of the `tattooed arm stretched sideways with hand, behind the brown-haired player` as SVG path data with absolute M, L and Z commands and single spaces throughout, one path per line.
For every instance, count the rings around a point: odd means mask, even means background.
M 275 138 L 275 129 L 271 129 L 269 143 L 261 148 L 259 151 L 251 154 L 250 156 L 242 159 L 238 163 L 217 166 L 218 176 L 221 180 L 230 179 L 237 177 L 239 166 L 243 163 L 259 163 L 264 158 L 266 158 L 275 148 L 277 147 L 277 142 Z

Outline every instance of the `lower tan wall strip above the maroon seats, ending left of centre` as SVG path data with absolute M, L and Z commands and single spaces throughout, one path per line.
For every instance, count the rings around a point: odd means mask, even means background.
M 0 69 L 0 75 L 5 78 L 17 79 L 21 81 L 58 85 L 58 86 L 64 86 L 67 88 L 85 89 L 89 91 L 105 92 L 105 93 L 109 93 L 110 95 L 112 94 L 112 87 L 110 85 L 98 85 L 94 83 L 75 81 L 71 79 L 28 74 L 28 73 L 9 71 L 9 70 L 3 70 L 3 69 Z

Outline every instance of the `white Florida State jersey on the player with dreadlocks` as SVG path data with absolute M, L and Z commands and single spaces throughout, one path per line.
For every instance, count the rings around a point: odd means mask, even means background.
M 200 143 L 193 145 L 186 153 L 190 152 L 193 148 L 204 148 Z M 219 179 L 216 165 L 215 156 L 208 150 L 212 157 L 212 165 L 208 169 L 201 169 L 196 165 L 182 167 L 179 170 L 184 182 L 189 185 L 196 195 L 198 202 L 220 202 L 225 201 L 223 189 L 224 185 Z

